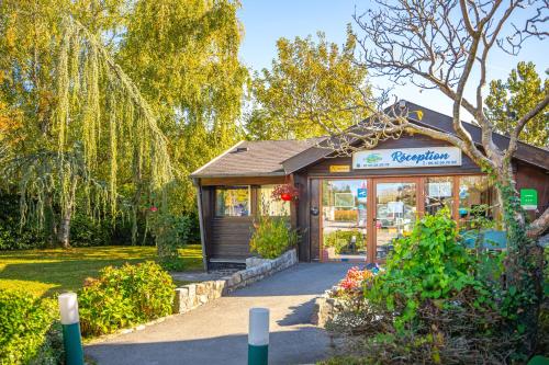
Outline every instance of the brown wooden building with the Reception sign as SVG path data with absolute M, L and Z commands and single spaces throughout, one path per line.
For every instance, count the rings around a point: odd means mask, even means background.
M 423 111 L 423 119 L 413 123 L 453 133 L 451 117 L 410 102 L 407 107 Z M 480 144 L 480 128 L 467 123 L 466 128 Z M 418 216 L 442 206 L 451 209 L 461 231 L 479 214 L 497 221 L 486 175 L 445 141 L 403 135 L 337 158 L 317 142 L 240 141 L 192 173 L 206 265 L 250 256 L 259 214 L 288 216 L 301 231 L 300 260 L 321 262 L 383 261 L 393 239 L 406 235 Z M 508 138 L 495 135 L 494 142 L 505 148 Z M 549 151 L 519 144 L 513 163 L 517 189 L 535 218 L 549 204 Z M 287 183 L 299 190 L 299 199 L 272 199 L 273 187 Z

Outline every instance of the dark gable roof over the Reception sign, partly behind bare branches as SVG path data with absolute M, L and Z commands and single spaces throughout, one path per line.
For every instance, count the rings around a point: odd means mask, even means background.
M 452 118 L 446 114 L 441 114 L 435 112 L 430 109 L 417 105 L 412 102 L 406 101 L 406 107 L 410 111 L 422 111 L 423 118 L 422 121 L 416 121 L 411 118 L 410 122 L 415 123 L 417 125 L 422 125 L 425 127 L 429 127 L 433 129 L 438 129 L 440 132 L 446 132 L 455 135 Z M 463 127 L 471 134 L 473 141 L 481 146 L 481 128 L 474 124 L 463 122 Z M 494 144 L 501 149 L 507 148 L 509 144 L 509 137 L 504 136 L 497 133 L 493 134 Z M 294 171 L 303 169 L 304 167 L 310 166 L 318 161 L 320 159 L 327 157 L 332 153 L 330 150 L 326 148 L 318 148 L 312 146 L 311 148 L 290 157 L 288 160 L 283 162 L 284 171 L 290 174 Z M 549 150 L 539 148 L 536 146 L 531 146 L 524 142 L 518 142 L 517 150 L 514 155 L 514 158 L 536 167 L 542 168 L 546 171 L 549 171 Z

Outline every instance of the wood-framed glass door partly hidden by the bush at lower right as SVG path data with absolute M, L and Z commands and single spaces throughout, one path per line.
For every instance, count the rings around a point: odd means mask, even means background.
M 373 247 L 369 261 L 385 260 L 394 240 L 408 235 L 418 213 L 418 180 L 373 180 Z

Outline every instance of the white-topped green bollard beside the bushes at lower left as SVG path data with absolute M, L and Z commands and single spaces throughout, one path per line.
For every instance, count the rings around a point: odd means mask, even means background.
M 65 363 L 67 365 L 83 365 L 82 338 L 76 294 L 63 293 L 59 295 L 58 300 L 61 315 L 63 343 L 65 345 Z

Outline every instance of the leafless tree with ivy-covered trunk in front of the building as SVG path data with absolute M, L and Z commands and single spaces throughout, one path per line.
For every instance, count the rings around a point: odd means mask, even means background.
M 358 60 L 371 76 L 383 76 L 397 83 L 434 89 L 452 102 L 453 133 L 423 127 L 411 119 L 422 114 L 406 107 L 380 109 L 357 127 L 333 130 L 330 148 L 341 153 L 372 148 L 380 140 L 403 133 L 422 134 L 459 147 L 495 182 L 507 231 L 506 306 L 511 328 L 528 334 L 525 349 L 535 345 L 540 292 L 538 236 L 547 231 L 549 209 L 528 224 L 522 209 L 513 174 L 513 157 L 526 125 L 547 112 L 549 93 L 516 115 L 508 144 L 494 142 L 495 121 L 486 115 L 484 85 L 489 56 L 497 47 L 515 54 L 526 41 L 541 41 L 547 33 L 547 1 L 514 0 L 378 0 L 372 10 L 355 14 Z M 473 98 L 466 89 L 473 90 Z M 469 112 L 481 129 L 480 146 L 462 123 Z M 533 127 L 535 129 L 535 127 Z M 534 238 L 534 239 L 533 239 Z

